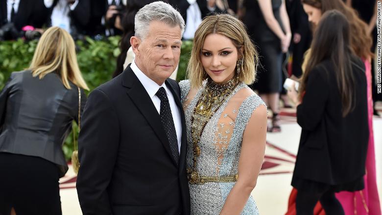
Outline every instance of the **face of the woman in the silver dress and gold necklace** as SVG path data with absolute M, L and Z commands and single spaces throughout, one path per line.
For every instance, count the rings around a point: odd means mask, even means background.
M 238 50 L 228 37 L 212 33 L 204 40 L 201 61 L 215 83 L 224 83 L 235 76 Z

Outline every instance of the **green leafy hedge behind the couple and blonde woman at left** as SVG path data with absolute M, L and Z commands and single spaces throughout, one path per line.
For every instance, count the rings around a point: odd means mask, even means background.
M 100 84 L 109 81 L 116 68 L 116 59 L 120 51 L 118 48 L 119 36 L 109 37 L 106 40 L 95 41 L 86 38 L 85 41 L 76 41 L 77 61 L 82 75 L 88 84 L 90 91 Z M 10 74 L 14 71 L 22 71 L 29 67 L 37 41 L 0 42 L 0 89 L 4 87 Z M 183 41 L 177 80 L 184 80 L 187 64 L 192 49 L 192 41 Z M 89 94 L 89 92 L 87 92 Z M 74 138 L 78 137 L 78 126 L 73 123 Z M 70 160 L 73 151 L 73 134 L 69 134 L 63 145 L 63 151 L 67 160 Z

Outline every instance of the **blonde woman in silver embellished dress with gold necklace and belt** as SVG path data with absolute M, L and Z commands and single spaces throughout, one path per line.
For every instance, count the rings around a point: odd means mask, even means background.
M 246 84 L 258 55 L 235 17 L 206 17 L 181 81 L 191 215 L 256 215 L 250 196 L 264 158 L 267 111 Z

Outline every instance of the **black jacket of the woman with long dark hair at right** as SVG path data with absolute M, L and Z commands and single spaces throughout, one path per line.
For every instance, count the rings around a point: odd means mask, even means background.
M 354 57 L 352 69 L 355 108 L 345 117 L 334 64 L 325 60 L 310 71 L 306 93 L 297 107 L 302 132 L 293 177 L 342 185 L 365 174 L 367 84 L 365 67 L 358 57 Z

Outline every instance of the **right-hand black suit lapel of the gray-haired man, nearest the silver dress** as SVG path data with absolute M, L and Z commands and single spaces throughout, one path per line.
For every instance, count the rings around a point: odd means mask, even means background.
M 179 154 L 179 169 L 183 169 L 186 161 L 186 151 L 187 151 L 187 133 L 186 133 L 186 119 L 184 116 L 184 111 L 182 107 L 182 103 L 180 101 L 179 91 L 176 90 L 176 87 L 172 86 L 172 84 L 166 80 L 166 85 L 169 86 L 172 95 L 174 95 L 174 100 L 178 110 L 180 112 L 180 118 L 182 121 L 182 141 L 180 144 L 180 154 Z M 180 171 L 179 171 L 180 173 Z

